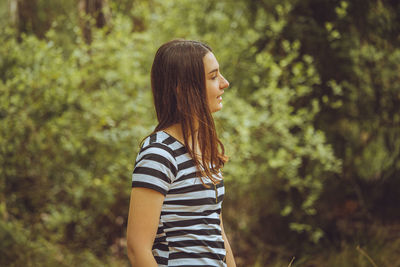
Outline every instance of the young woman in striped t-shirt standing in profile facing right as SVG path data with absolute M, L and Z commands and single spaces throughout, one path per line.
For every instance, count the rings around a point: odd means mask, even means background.
M 129 259 L 134 267 L 236 266 L 221 217 L 227 157 L 211 115 L 229 83 L 210 47 L 174 40 L 158 49 L 151 85 L 158 125 L 133 171 Z

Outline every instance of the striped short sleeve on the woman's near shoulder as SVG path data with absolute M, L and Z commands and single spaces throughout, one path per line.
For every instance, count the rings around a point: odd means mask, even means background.
M 144 187 L 167 194 L 177 172 L 172 150 L 160 143 L 142 148 L 136 158 L 132 187 Z

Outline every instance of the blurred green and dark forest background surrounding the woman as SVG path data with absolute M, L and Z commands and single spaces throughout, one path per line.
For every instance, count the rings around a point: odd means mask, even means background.
M 0 266 L 129 266 L 149 73 L 174 38 L 230 81 L 238 266 L 400 266 L 400 1 L 1 0 Z

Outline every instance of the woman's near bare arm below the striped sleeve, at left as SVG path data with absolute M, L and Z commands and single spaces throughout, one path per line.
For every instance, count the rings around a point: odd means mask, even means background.
M 157 233 L 164 195 L 151 189 L 131 191 L 127 226 L 128 257 L 133 267 L 157 267 L 151 249 Z

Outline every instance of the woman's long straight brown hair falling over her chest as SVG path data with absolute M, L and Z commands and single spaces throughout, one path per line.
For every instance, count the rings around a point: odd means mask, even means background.
M 198 41 L 173 40 L 163 44 L 154 57 L 151 87 L 158 119 L 154 132 L 179 123 L 185 147 L 201 176 L 216 184 L 219 180 L 213 175 L 218 175 L 227 156 L 207 101 L 203 57 L 211 51 Z M 197 142 L 201 160 L 193 151 Z M 201 181 L 204 184 L 202 178 Z

